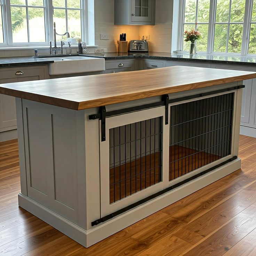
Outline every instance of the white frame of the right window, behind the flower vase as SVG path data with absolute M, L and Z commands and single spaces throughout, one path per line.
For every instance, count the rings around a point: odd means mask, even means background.
M 207 51 L 197 51 L 198 53 L 203 54 L 218 54 L 218 55 L 244 55 L 244 56 L 254 56 L 255 54 L 248 54 L 248 47 L 249 47 L 249 35 L 250 35 L 250 24 L 256 23 L 251 22 L 251 11 L 253 6 L 253 0 L 246 0 L 245 2 L 245 16 L 244 21 L 242 22 L 224 22 L 223 24 L 243 24 L 243 33 L 242 33 L 242 43 L 241 43 L 241 53 L 219 53 L 213 51 L 214 45 L 214 28 L 215 28 L 215 14 L 216 14 L 216 5 L 217 0 L 210 0 L 210 8 L 209 8 L 209 27 L 208 27 L 208 44 L 207 44 Z M 177 39 L 177 45 L 180 50 L 178 52 L 187 53 L 187 51 L 183 51 L 183 26 L 184 26 L 184 13 L 185 13 L 185 0 L 181 0 L 179 2 L 179 24 L 178 24 L 178 31 L 179 37 Z M 230 13 L 229 13 L 230 16 Z M 216 22 L 219 24 L 219 22 Z M 228 37 L 229 35 L 227 35 Z M 227 39 L 228 41 L 228 39 Z M 227 50 L 227 48 L 226 48 Z

